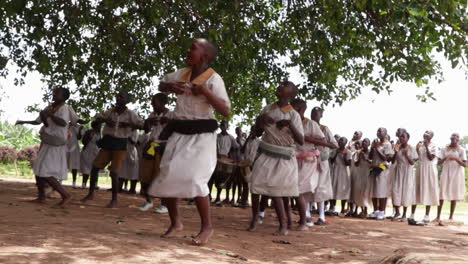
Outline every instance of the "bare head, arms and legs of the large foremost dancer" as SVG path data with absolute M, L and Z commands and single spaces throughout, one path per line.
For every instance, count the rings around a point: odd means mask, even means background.
M 214 51 L 208 48 L 208 43 L 204 39 L 196 39 L 188 50 L 187 65 L 192 69 L 190 80 L 194 80 L 200 74 L 208 69 L 209 64 L 215 58 Z M 187 88 L 186 85 L 189 87 Z M 182 94 L 190 89 L 194 96 L 204 96 L 208 103 L 221 115 L 228 117 L 230 107 L 224 100 L 216 96 L 206 85 L 181 84 L 178 82 L 161 82 L 159 90 L 162 92 Z M 174 233 L 183 230 L 183 224 L 179 216 L 178 199 L 166 198 L 164 202 L 169 210 L 171 226 L 164 233 L 163 237 L 172 237 Z M 192 239 L 195 245 L 203 245 L 208 242 L 213 235 L 213 226 L 211 224 L 210 201 L 208 196 L 195 197 L 198 213 L 201 218 L 201 229 L 197 236 Z

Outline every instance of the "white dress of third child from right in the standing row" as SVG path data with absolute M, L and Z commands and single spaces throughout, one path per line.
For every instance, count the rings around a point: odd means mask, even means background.
M 417 159 L 416 148 L 407 145 L 408 157 Z M 394 206 L 408 207 L 416 204 L 416 177 L 414 175 L 414 165 L 410 165 L 408 159 L 403 154 L 403 149 L 396 154 L 395 175 L 393 177 L 392 201 Z

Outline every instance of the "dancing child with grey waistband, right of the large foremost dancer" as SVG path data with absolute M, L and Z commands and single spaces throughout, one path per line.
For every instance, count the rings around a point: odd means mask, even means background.
M 285 204 L 289 203 L 290 197 L 299 196 L 294 144 L 304 143 L 301 117 L 289 104 L 296 93 L 293 83 L 282 83 L 276 90 L 278 102 L 267 105 L 257 118 L 255 126 L 262 129 L 264 134 L 259 146 L 260 154 L 252 170 L 252 220 L 249 231 L 256 229 L 259 196 L 266 195 L 273 200 L 278 216 L 280 227 L 277 234 L 288 234 L 288 220 L 291 218 Z M 304 230 L 307 226 L 300 223 L 299 228 Z

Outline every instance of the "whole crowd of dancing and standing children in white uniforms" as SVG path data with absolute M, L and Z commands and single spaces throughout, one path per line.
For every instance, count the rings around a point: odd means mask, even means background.
M 45 201 L 45 188 L 50 186 L 62 197 L 59 206 L 65 206 L 71 195 L 60 182 L 68 171 L 73 175 L 73 187 L 78 172 L 83 175 L 82 188 L 89 179 L 89 192 L 81 201 L 92 200 L 98 175 L 107 168 L 112 179 L 108 207 L 117 207 L 118 193 L 126 182 L 133 194 L 140 182 L 144 197 L 140 210 L 151 209 L 153 199 L 160 198 L 156 211 L 169 213 L 171 225 L 164 237 L 183 229 L 179 200 L 195 202 L 201 219 L 200 233 L 192 241 L 197 245 L 206 243 L 213 234 L 210 203 L 246 208 L 249 193 L 252 218 L 248 230 L 255 231 L 263 222 L 271 201 L 278 235 L 293 228 L 293 209 L 300 216 L 296 229 L 303 231 L 314 224 L 327 224 L 326 215 L 383 220 L 388 198 L 395 221 L 427 224 L 431 206 L 438 206 L 436 220 L 440 220 L 446 200 L 451 202 L 453 219 L 456 202 L 464 199 L 467 166 L 458 134 L 454 133 L 450 144 L 440 151 L 431 142 L 431 131 L 411 146 L 410 134 L 403 128 L 398 129 L 395 142 L 390 141 L 385 128 L 379 128 L 372 142 L 356 131 L 348 143 L 346 137 L 334 135 L 321 124 L 321 108 L 314 107 L 310 119 L 305 116 L 307 104 L 296 98 L 297 87 L 288 81 L 279 85 L 277 102 L 262 110 L 248 136 L 241 128 L 236 128 L 237 137 L 229 135 L 226 121 L 220 123 L 221 133 L 216 134 L 214 112 L 230 115 L 223 79 L 209 67 L 216 55 L 213 43 L 194 40 L 188 51 L 188 67 L 162 78 L 160 93 L 151 98 L 153 112 L 145 120 L 127 108 L 131 96 L 122 91 L 116 95 L 115 105 L 98 114 L 91 129 L 84 131 L 79 123 L 86 121 L 79 120 L 65 104 L 70 92 L 55 89 L 52 104 L 37 120 L 18 121 L 43 125 L 34 162 L 36 201 Z M 166 107 L 170 94 L 176 99 L 174 111 Z M 442 166 L 440 180 L 437 163 Z M 217 189 L 214 200 L 213 186 Z M 221 200 L 223 189 L 226 197 Z M 339 213 L 335 211 L 338 200 Z M 414 220 L 417 205 L 426 206 L 422 222 Z M 411 215 L 407 218 L 408 207 Z M 314 209 L 318 213 L 315 223 L 311 217 Z

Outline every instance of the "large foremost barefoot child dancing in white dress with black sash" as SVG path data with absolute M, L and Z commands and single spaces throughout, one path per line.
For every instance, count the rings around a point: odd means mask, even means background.
M 192 240 L 196 245 L 207 243 L 213 235 L 208 181 L 217 162 L 214 110 L 228 117 L 231 108 L 223 79 L 209 68 L 216 55 L 214 44 L 206 39 L 194 40 L 188 52 L 189 68 L 164 76 L 159 85 L 162 92 L 175 93 L 177 102 L 174 119 L 159 137 L 168 141 L 160 175 L 149 194 L 163 197 L 169 210 L 171 226 L 163 237 L 183 229 L 178 199 L 194 198 L 201 218 L 200 233 Z

